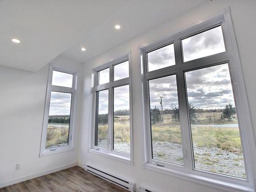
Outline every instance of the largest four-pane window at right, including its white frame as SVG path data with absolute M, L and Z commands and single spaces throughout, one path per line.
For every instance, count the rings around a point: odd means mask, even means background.
M 145 167 L 252 186 L 252 128 L 228 27 L 220 16 L 141 48 Z

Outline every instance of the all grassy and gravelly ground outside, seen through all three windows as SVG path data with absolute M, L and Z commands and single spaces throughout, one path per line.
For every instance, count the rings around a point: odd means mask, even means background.
M 214 116 L 212 113 L 197 114 L 196 124 L 191 125 L 196 167 L 245 178 L 240 133 L 236 126 L 237 119 L 219 119 L 220 115 L 221 113 L 218 112 Z M 171 115 L 164 115 L 163 122 L 152 124 L 155 159 L 177 164 L 183 163 L 179 124 L 180 122 L 172 120 Z M 47 147 L 65 145 L 67 141 L 68 127 L 53 127 L 53 125 L 48 127 Z M 107 141 L 108 124 L 99 124 L 98 146 L 108 147 Z M 129 116 L 115 116 L 114 118 L 114 150 L 130 153 Z

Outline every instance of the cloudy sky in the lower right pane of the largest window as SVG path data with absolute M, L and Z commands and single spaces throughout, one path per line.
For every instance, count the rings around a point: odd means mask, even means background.
M 188 102 L 196 108 L 224 108 L 234 105 L 228 64 L 186 72 Z

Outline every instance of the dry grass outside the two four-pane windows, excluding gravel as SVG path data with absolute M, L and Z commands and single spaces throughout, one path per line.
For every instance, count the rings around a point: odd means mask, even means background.
M 207 117 L 207 114 L 204 114 Z M 129 116 L 118 116 L 114 120 L 114 141 L 130 143 Z M 236 121 L 232 121 L 235 123 Z M 181 130 L 178 122 L 170 115 L 164 115 L 164 122 L 152 125 L 153 142 L 172 142 L 181 144 Z M 241 140 L 238 128 L 192 125 L 193 144 L 199 147 L 218 147 L 230 152 L 241 153 Z M 108 138 L 108 125 L 99 125 L 99 142 Z

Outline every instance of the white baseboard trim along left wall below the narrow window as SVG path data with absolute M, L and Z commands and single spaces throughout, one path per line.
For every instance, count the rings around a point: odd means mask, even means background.
M 0 183 L 0 188 L 6 187 L 8 185 L 13 185 L 13 184 L 16 184 L 16 183 L 20 183 L 20 182 L 23 182 L 23 181 L 27 181 L 29 179 L 34 179 L 36 177 L 41 177 L 41 176 L 44 176 L 44 175 L 48 175 L 48 174 L 51 174 L 51 173 L 54 173 L 54 172 L 58 172 L 59 170 L 63 170 L 63 169 L 70 168 L 70 167 L 73 167 L 73 166 L 77 166 L 77 163 L 72 163 L 72 164 L 68 164 L 68 165 L 64 165 L 64 166 L 59 166 L 59 167 L 56 167 L 56 168 L 53 168 L 53 169 L 45 170 L 44 172 L 39 172 L 39 173 L 31 174 L 31 175 L 28 175 L 28 176 L 20 177 L 20 178 L 17 178 L 17 179 L 5 181 L 5 182 Z

